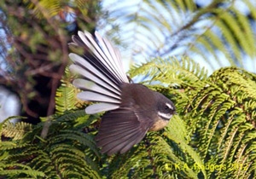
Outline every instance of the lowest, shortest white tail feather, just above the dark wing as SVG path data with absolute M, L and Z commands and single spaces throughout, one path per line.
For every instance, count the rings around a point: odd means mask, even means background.
M 110 111 L 119 108 L 119 105 L 110 104 L 110 103 L 97 103 L 90 105 L 89 107 L 85 108 L 85 113 L 94 114 L 94 113 L 102 113 L 105 111 Z

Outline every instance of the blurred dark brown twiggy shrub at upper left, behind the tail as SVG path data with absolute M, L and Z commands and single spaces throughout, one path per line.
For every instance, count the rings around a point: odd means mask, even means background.
M 67 43 L 79 29 L 95 29 L 100 10 L 97 0 L 0 1 L 0 84 L 19 95 L 28 120 L 55 112 L 55 92 L 69 63 Z

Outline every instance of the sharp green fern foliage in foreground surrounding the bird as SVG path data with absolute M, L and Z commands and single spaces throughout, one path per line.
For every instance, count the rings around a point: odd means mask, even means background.
M 40 137 L 44 123 L 14 126 L 5 121 L 1 125 L 3 136 L 12 136 L 0 143 L 0 176 L 253 178 L 255 74 L 225 67 L 207 76 L 206 70 L 188 58 L 154 59 L 129 73 L 147 76 L 143 83 L 174 101 L 178 115 L 164 130 L 148 132 L 125 154 L 102 155 L 93 139 L 99 117 L 66 106 L 67 101 L 77 101 L 66 93 L 65 88 L 70 88 L 66 79 L 72 78 L 67 72 L 58 90 L 58 96 L 65 97 L 56 100 L 56 106 L 65 105 L 52 117 L 45 139 Z

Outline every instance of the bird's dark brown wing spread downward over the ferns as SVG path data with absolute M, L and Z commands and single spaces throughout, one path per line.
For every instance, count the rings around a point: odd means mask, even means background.
M 151 125 L 150 118 L 145 118 L 127 108 L 105 113 L 96 136 L 97 147 L 102 147 L 102 153 L 108 155 L 125 153 L 143 140 Z

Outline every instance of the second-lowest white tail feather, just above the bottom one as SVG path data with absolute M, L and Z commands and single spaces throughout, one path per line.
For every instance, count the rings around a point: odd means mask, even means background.
M 83 91 L 80 92 L 77 97 L 83 101 L 98 101 L 98 102 L 109 102 L 119 104 L 121 101 L 113 99 L 113 97 L 109 97 L 108 95 L 101 95 L 92 91 Z

